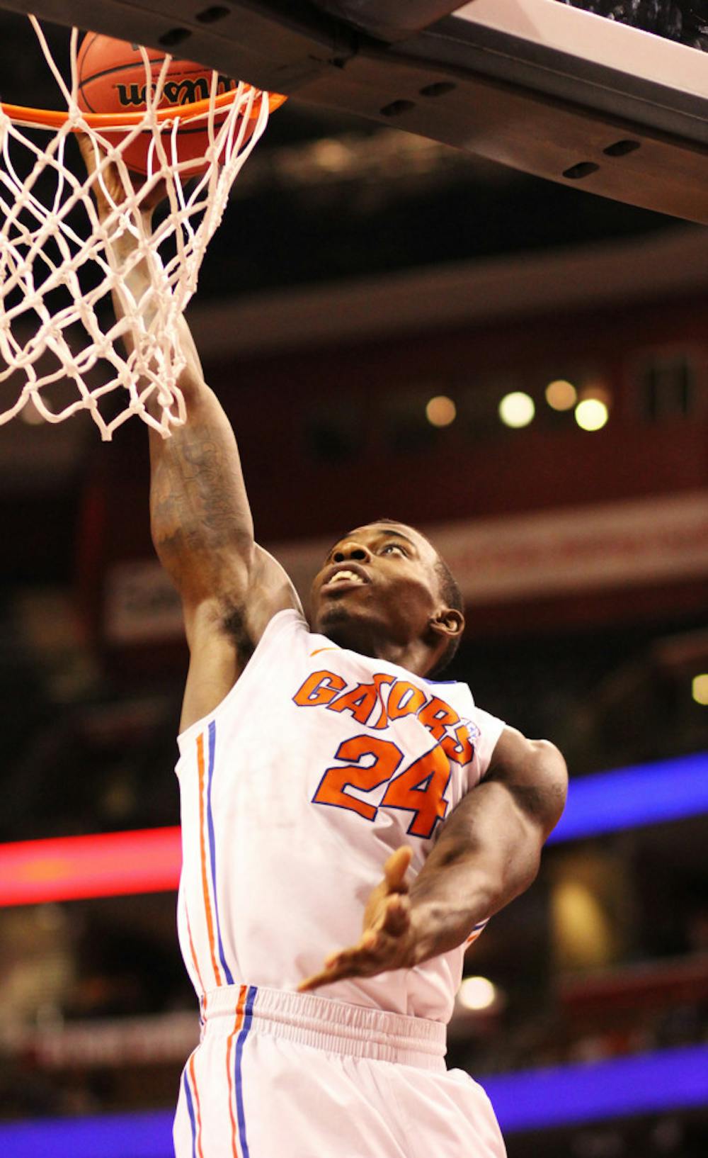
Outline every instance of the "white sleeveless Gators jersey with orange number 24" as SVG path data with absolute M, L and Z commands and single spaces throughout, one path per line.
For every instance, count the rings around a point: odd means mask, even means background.
M 411 845 L 410 879 L 420 872 L 503 727 L 464 683 L 338 647 L 295 610 L 275 615 L 227 697 L 178 741 L 178 932 L 202 1005 L 222 985 L 293 990 L 355 944 L 389 855 Z M 464 952 L 319 992 L 448 1021 Z

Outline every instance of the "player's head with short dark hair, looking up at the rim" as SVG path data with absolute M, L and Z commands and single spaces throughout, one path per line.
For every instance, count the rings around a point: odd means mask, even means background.
M 368 655 L 405 651 L 427 637 L 444 606 L 436 564 L 434 548 L 413 527 L 357 527 L 334 544 L 315 577 L 314 630 Z

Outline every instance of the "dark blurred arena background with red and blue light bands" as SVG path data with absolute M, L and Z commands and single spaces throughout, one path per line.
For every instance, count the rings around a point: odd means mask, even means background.
M 19 22 L 0 14 L 0 95 L 51 105 Z M 451 675 L 567 756 L 540 877 L 469 954 L 451 1064 L 489 1089 L 510 1158 L 702 1158 L 706 229 L 293 101 L 190 322 L 259 538 L 303 591 L 349 526 L 420 526 L 467 599 Z M 167 1158 L 197 1035 L 175 936 L 186 653 L 147 484 L 138 420 L 110 445 L 81 417 L 0 427 L 9 1158 Z M 66 840 L 97 834 L 132 835 Z

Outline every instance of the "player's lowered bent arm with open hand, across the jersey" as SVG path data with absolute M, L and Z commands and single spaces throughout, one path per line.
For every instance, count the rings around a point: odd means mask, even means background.
M 487 775 L 445 820 L 413 884 L 406 882 L 412 850 L 403 846 L 369 897 L 359 944 L 332 953 L 300 988 L 411 968 L 463 945 L 536 878 L 567 784 L 554 745 L 504 728 Z

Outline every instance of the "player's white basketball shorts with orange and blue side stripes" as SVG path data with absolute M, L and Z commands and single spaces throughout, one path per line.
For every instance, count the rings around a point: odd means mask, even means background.
M 177 1158 L 506 1158 L 437 1021 L 224 985 L 182 1076 Z

